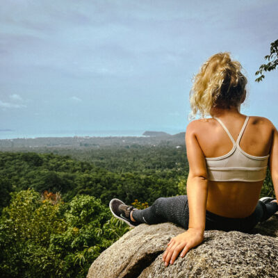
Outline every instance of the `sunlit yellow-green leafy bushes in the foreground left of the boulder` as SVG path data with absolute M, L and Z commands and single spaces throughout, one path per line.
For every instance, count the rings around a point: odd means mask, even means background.
M 129 227 L 99 199 L 35 190 L 11 194 L 0 218 L 0 276 L 85 277 L 92 261 Z

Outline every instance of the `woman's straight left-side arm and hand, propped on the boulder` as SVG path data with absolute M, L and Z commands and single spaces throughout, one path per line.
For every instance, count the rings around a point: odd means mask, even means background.
M 188 230 L 175 236 L 168 243 L 163 254 L 163 261 L 166 266 L 169 262 L 174 263 L 180 252 L 180 256 L 185 256 L 191 248 L 202 243 L 204 239 L 208 181 L 206 160 L 195 134 L 197 124 L 197 121 L 193 121 L 188 124 L 186 129 L 186 152 L 190 167 L 186 186 L 189 206 Z

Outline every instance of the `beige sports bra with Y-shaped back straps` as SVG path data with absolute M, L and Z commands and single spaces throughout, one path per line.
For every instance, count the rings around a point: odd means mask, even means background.
M 227 132 L 234 147 L 228 154 L 218 157 L 206 157 L 208 180 L 210 181 L 262 181 L 268 167 L 268 156 L 252 156 L 240 148 L 240 139 L 249 120 L 246 117 L 238 139 L 234 140 L 223 122 L 215 117 Z

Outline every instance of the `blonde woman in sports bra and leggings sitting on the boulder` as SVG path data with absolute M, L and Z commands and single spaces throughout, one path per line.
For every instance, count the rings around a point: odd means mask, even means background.
M 144 210 L 111 200 L 113 215 L 131 227 L 170 221 L 187 229 L 167 244 L 166 266 L 202 243 L 205 229 L 250 232 L 278 210 L 275 198 L 259 200 L 267 166 L 278 196 L 278 132 L 270 120 L 240 113 L 247 83 L 240 70 L 219 53 L 195 76 L 190 105 L 203 118 L 186 129 L 188 195 L 158 198 Z

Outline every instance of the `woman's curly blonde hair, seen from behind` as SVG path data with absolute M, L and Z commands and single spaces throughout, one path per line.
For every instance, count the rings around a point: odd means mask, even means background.
M 208 58 L 196 76 L 190 90 L 192 117 L 211 115 L 211 108 L 238 106 L 243 99 L 246 77 L 242 66 L 231 60 L 229 52 L 220 52 Z M 211 115 L 213 116 L 213 115 Z

